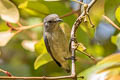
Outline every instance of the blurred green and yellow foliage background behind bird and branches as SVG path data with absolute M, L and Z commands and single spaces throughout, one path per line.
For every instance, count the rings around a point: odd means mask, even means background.
M 90 1 L 83 0 L 86 4 Z M 10 2 L 18 8 L 20 23 L 23 25 L 39 24 L 48 14 L 56 13 L 59 16 L 64 16 L 81 8 L 79 3 L 71 0 L 10 0 Z M 95 27 L 92 28 L 87 19 L 88 22 L 82 23 L 77 30 L 78 42 L 84 44 L 87 52 L 97 59 L 119 52 L 119 31 L 102 17 L 105 14 L 120 26 L 115 16 L 118 2 L 120 1 L 98 0 L 89 14 Z M 68 37 L 79 14 L 80 11 L 62 18 L 64 22 L 60 25 L 67 32 Z M 0 19 L 0 32 L 7 30 L 9 27 L 6 22 Z M 9 71 L 14 76 L 68 75 L 48 57 L 42 37 L 43 26 L 25 30 L 15 35 L 7 45 L 0 47 L 0 68 Z M 46 57 L 46 55 L 48 56 Z M 94 65 L 94 62 L 82 53 L 76 52 L 76 56 L 77 73 Z M 0 73 L 0 75 L 5 74 Z

